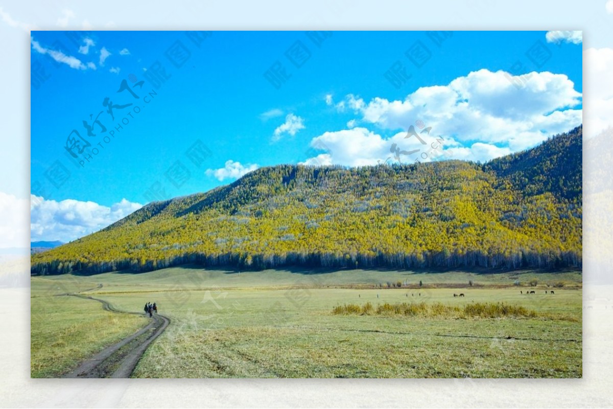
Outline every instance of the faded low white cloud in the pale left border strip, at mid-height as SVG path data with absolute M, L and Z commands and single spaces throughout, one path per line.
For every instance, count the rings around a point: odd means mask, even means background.
M 0 248 L 29 247 L 28 199 L 0 192 Z

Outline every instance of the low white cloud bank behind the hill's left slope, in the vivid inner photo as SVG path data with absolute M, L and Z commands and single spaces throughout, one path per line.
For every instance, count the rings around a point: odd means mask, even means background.
M 83 235 L 99 231 L 115 223 L 142 205 L 126 199 L 111 207 L 95 202 L 66 199 L 56 202 L 31 195 L 31 240 L 60 240 L 69 242 Z

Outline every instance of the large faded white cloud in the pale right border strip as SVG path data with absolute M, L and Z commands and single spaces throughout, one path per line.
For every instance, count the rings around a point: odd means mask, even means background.
M 594 137 L 613 125 L 613 49 L 587 48 L 584 58 L 585 137 Z

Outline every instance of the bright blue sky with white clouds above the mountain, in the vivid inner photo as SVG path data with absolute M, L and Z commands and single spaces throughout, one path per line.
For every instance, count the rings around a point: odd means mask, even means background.
M 257 167 L 485 161 L 582 123 L 581 32 L 32 31 L 31 64 L 32 240 Z

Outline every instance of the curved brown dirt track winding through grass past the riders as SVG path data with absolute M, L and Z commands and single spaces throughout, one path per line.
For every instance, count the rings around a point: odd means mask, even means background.
M 94 297 L 83 296 L 82 294 L 66 295 L 96 300 L 102 303 L 102 308 L 106 311 L 140 315 L 140 313 L 117 310 L 109 302 Z M 153 319 L 143 329 L 86 359 L 77 369 L 67 373 L 62 378 L 129 378 L 149 344 L 162 334 L 169 324 L 169 318 L 153 314 Z

